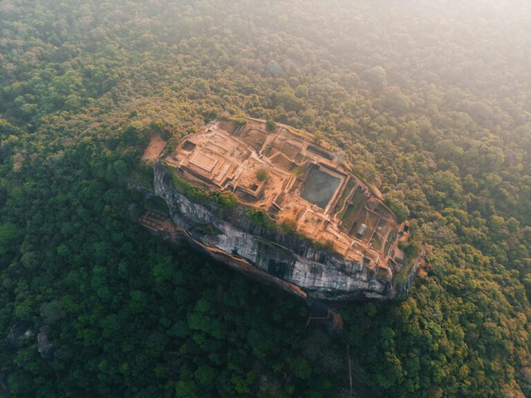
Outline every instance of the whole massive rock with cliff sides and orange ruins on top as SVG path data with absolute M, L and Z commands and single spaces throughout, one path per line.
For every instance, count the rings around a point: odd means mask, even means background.
M 251 118 L 215 121 L 172 151 L 155 137 L 145 156 L 172 227 L 241 272 L 309 300 L 384 300 L 407 290 L 416 268 L 401 249 L 409 224 L 309 133 Z M 154 211 L 140 218 L 158 231 L 164 221 Z

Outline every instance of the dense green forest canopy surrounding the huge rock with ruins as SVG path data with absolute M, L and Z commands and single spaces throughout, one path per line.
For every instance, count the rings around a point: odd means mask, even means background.
M 531 397 L 530 26 L 523 0 L 0 1 L 0 396 L 349 397 L 348 345 L 371 397 Z M 150 134 L 243 115 L 411 220 L 406 299 L 306 328 L 131 220 Z

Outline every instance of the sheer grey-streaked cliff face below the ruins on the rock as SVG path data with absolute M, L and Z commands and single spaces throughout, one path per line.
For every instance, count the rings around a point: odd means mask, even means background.
M 192 245 L 245 274 L 273 283 L 305 299 L 391 299 L 397 294 L 392 272 L 373 272 L 347 261 L 298 234 L 257 225 L 244 206 L 224 207 L 190 200 L 171 175 L 155 163 L 155 194 Z

